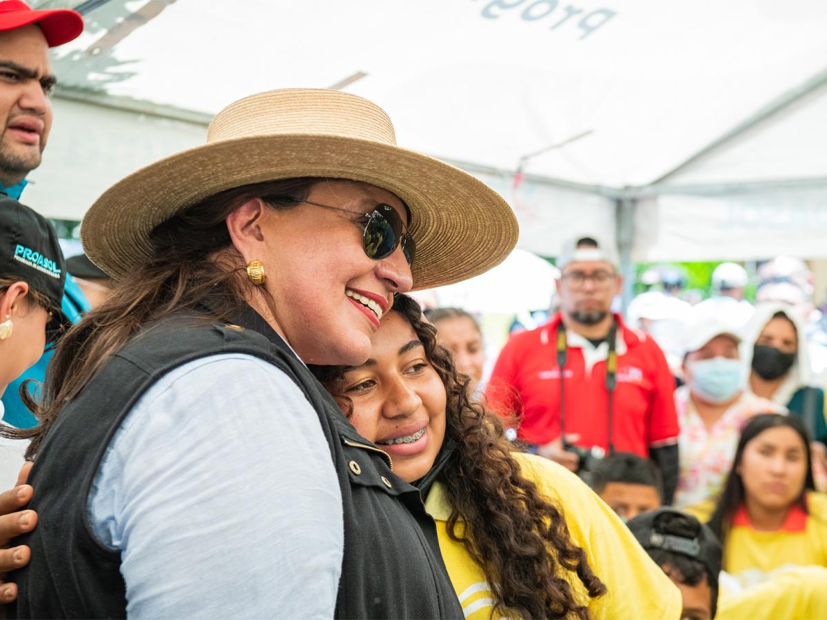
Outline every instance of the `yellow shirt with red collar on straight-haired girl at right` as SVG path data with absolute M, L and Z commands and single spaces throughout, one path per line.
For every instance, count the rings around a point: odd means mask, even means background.
M 807 512 L 794 506 L 776 532 L 754 530 L 741 508 L 724 543 L 724 570 L 747 586 L 781 566 L 827 566 L 827 495 L 808 493 L 806 499 Z

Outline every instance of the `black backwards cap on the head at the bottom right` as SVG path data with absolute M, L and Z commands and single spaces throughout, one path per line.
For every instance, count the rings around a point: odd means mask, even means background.
M 694 535 L 680 536 L 671 532 L 667 522 L 679 516 L 690 519 L 697 525 Z M 662 549 L 681 554 L 704 565 L 710 575 L 718 575 L 721 570 L 721 546 L 715 533 L 696 517 L 675 508 L 657 508 L 647 513 L 640 513 L 626 524 L 646 551 Z

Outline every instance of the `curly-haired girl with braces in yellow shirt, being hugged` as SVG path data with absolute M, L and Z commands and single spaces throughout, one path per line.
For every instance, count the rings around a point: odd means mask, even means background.
M 514 451 L 469 397 L 413 299 L 396 295 L 371 342 L 364 365 L 311 370 L 421 489 L 466 618 L 678 617 L 676 588 L 611 509 L 560 465 Z

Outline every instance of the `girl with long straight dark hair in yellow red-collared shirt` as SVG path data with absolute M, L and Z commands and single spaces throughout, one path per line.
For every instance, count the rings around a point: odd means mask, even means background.
M 747 423 L 709 525 L 724 570 L 745 585 L 783 565 L 827 566 L 827 496 L 813 492 L 798 419 L 767 413 Z

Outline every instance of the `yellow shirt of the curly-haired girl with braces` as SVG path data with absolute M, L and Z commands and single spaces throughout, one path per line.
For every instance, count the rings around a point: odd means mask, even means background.
M 675 584 L 643 551 L 614 511 L 581 479 L 540 456 L 517 453 L 515 457 L 523 475 L 562 508 L 571 539 L 586 551 L 591 570 L 609 590 L 597 599 L 589 599 L 577 575 L 569 573 L 567 580 L 576 598 L 589 606 L 592 618 L 681 617 L 681 593 Z M 442 559 L 466 618 L 488 620 L 493 607 L 490 587 L 465 546 L 448 537 L 446 521 L 451 507 L 442 484 L 433 485 L 425 508 L 437 522 Z M 461 523 L 457 529 L 461 533 Z

